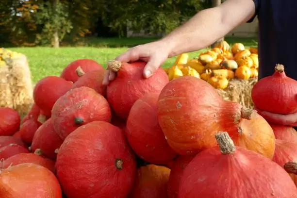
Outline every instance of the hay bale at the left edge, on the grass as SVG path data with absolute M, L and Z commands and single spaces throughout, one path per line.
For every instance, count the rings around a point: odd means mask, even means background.
M 26 115 L 33 103 L 31 71 L 25 55 L 3 59 L 0 68 L 0 106 L 16 109 L 19 115 Z

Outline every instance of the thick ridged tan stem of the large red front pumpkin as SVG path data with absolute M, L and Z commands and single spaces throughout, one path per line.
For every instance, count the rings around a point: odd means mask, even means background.
M 217 132 L 214 135 L 222 154 L 231 154 L 236 148 L 228 132 Z

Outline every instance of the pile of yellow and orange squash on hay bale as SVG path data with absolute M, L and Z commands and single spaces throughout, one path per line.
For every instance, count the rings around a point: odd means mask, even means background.
M 187 53 L 179 55 L 170 68 L 165 68 L 169 80 L 181 76 L 194 76 L 209 82 L 214 88 L 226 89 L 231 79 L 248 80 L 258 77 L 258 50 L 235 43 L 231 47 L 226 41 L 217 43 L 190 59 Z

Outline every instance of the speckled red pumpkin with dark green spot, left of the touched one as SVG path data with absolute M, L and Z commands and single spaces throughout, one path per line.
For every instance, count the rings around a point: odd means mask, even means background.
M 90 87 L 79 87 L 59 98 L 52 108 L 51 120 L 58 135 L 64 140 L 79 126 L 92 121 L 111 120 L 107 100 Z

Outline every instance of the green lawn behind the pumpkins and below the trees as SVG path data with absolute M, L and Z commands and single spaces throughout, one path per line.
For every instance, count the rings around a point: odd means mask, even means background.
M 108 60 L 133 46 L 148 43 L 157 38 L 88 38 L 75 45 L 65 45 L 60 49 L 49 47 L 9 48 L 21 52 L 28 57 L 33 83 L 45 76 L 59 75 L 64 67 L 76 59 L 94 59 L 103 66 Z M 255 46 L 255 38 L 226 38 L 227 42 L 243 43 L 245 46 Z M 202 49 L 203 50 L 203 49 Z M 195 57 L 199 51 L 190 53 Z M 163 67 L 173 64 L 175 58 L 169 58 Z

